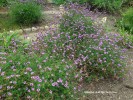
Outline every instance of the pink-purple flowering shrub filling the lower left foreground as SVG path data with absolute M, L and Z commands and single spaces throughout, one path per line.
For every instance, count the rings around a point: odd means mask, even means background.
M 36 42 L 33 42 L 32 46 L 35 46 L 34 51 L 30 45 L 25 46 L 12 38 L 10 45 L 5 48 L 6 62 L 0 67 L 0 98 L 73 98 L 77 85 L 72 62 L 55 59 L 45 48 L 44 52 L 42 49 L 38 50 Z

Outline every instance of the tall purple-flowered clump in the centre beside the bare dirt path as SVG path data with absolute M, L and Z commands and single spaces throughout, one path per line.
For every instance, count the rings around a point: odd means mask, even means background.
M 93 16 L 84 15 L 84 11 L 72 7 L 60 21 L 58 43 L 62 47 L 58 48 L 62 56 L 73 60 L 87 80 L 122 77 L 125 65 L 117 46 L 120 38 L 103 36 L 90 20 Z

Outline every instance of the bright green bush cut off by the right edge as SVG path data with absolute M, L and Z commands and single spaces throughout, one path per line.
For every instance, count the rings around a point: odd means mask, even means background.
M 122 20 L 120 21 L 121 28 L 124 28 L 128 33 L 133 34 L 133 8 L 128 8 L 122 14 Z

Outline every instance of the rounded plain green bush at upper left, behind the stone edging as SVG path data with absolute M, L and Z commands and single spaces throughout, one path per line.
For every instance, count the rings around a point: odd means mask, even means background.
M 41 19 L 41 7 L 34 2 L 11 5 L 10 17 L 17 24 L 30 25 Z

